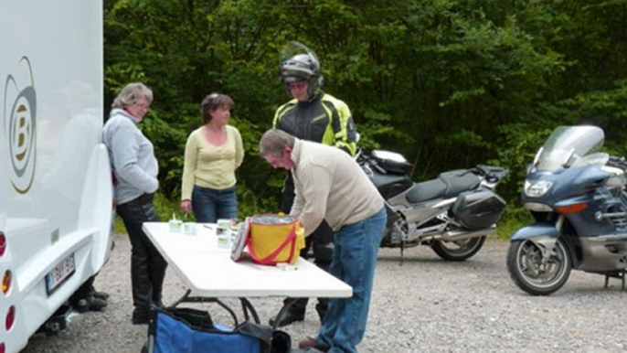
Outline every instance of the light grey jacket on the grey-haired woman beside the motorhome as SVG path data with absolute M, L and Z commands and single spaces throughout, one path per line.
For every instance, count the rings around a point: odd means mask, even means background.
M 122 109 L 113 109 L 102 130 L 112 162 L 115 199 L 119 205 L 152 194 L 159 187 L 159 166 L 153 144 L 136 124 L 139 120 Z

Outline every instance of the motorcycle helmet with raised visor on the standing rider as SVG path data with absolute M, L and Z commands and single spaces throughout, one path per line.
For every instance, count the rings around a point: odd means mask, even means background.
M 283 48 L 280 78 L 290 96 L 288 83 L 307 80 L 309 82 L 307 93 L 310 98 L 314 97 L 323 85 L 320 61 L 311 49 L 299 42 L 289 42 Z

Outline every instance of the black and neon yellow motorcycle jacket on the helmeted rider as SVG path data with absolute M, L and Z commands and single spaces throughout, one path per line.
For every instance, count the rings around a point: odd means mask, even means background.
M 309 102 L 293 99 L 277 109 L 272 126 L 302 140 L 356 154 L 356 126 L 348 105 L 320 91 Z

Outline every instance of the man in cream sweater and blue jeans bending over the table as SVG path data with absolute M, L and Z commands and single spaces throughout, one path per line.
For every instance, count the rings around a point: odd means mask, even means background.
M 301 220 L 305 236 L 323 219 L 334 230 L 329 273 L 353 287 L 350 299 L 329 300 L 318 337 L 299 342 L 299 348 L 356 353 L 387 220 L 383 198 L 355 160 L 335 147 L 269 130 L 261 137 L 260 155 L 271 166 L 292 171 L 296 198 L 290 214 Z

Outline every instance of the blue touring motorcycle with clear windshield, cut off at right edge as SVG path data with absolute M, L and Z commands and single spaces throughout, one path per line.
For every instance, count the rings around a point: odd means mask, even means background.
M 516 230 L 507 253 L 514 282 L 552 294 L 571 269 L 622 279 L 627 267 L 625 159 L 600 153 L 603 131 L 560 126 L 527 167 L 522 201 L 536 220 Z

